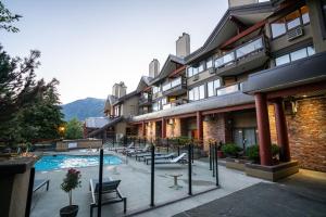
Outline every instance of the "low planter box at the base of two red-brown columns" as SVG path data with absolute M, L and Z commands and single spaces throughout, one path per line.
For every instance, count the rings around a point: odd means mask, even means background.
M 258 177 L 268 181 L 277 181 L 297 174 L 299 171 L 299 164 L 297 161 L 280 163 L 274 166 L 247 163 L 244 171 L 247 176 Z

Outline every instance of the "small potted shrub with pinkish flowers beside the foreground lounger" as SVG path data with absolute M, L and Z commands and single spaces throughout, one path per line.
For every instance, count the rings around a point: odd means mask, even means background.
M 73 190 L 80 187 L 80 171 L 70 168 L 61 183 L 61 189 L 68 193 L 70 205 L 60 209 L 61 217 L 75 217 L 78 213 L 78 205 L 73 205 Z

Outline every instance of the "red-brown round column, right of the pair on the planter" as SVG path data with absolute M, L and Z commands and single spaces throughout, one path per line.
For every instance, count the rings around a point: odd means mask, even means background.
M 290 156 L 287 119 L 284 114 L 281 102 L 283 102 L 281 99 L 277 99 L 274 102 L 277 143 L 280 148 L 279 159 L 283 162 L 289 162 L 291 161 L 291 156 Z

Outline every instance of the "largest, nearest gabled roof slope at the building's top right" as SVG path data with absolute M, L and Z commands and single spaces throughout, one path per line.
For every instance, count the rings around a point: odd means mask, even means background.
M 254 17 L 255 14 L 263 13 L 267 17 L 274 12 L 275 7 L 273 5 L 273 2 L 261 2 L 229 8 L 225 12 L 212 34 L 209 36 L 204 44 L 185 58 L 186 64 L 190 64 L 204 54 L 211 53 L 227 39 L 236 35 L 237 25 L 230 21 L 231 16 L 250 15 Z

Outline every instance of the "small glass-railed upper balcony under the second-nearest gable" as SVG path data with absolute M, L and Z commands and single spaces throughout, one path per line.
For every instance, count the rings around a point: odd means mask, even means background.
M 187 92 L 187 80 L 184 77 L 175 78 L 162 88 L 164 95 L 180 95 Z

